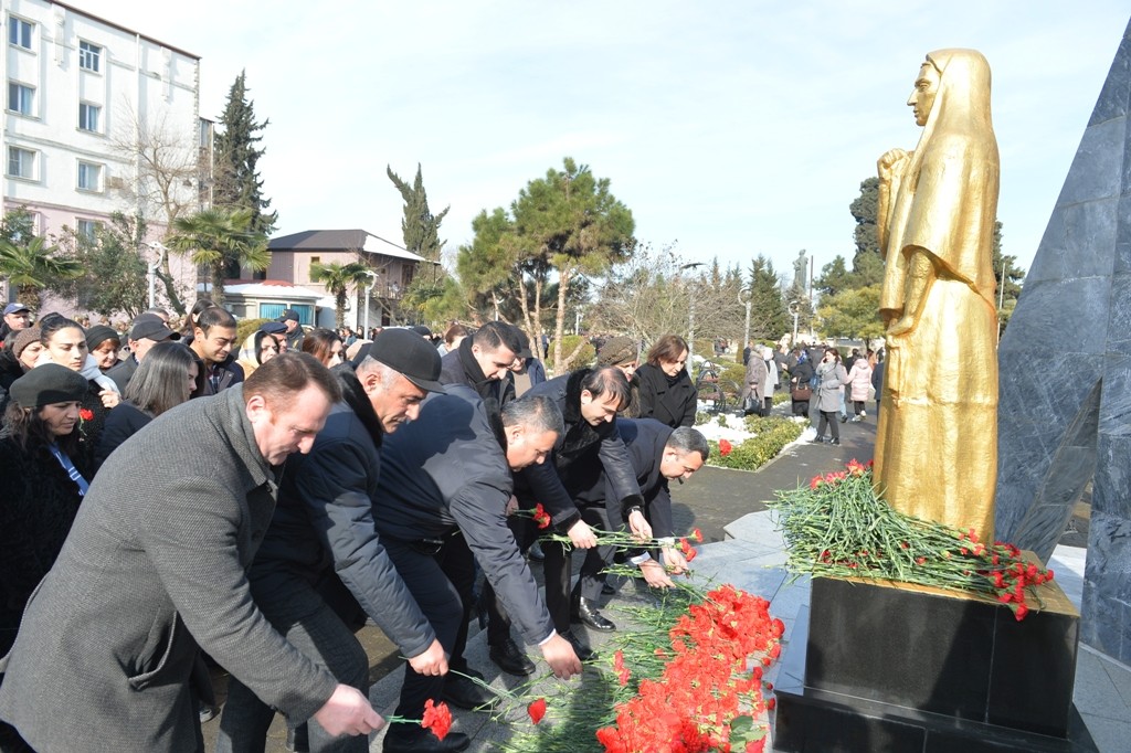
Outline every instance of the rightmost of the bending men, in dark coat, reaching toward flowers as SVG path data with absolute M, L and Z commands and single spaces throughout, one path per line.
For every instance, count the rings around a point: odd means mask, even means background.
M 616 431 L 624 442 L 640 493 L 644 495 L 644 514 L 651 525 L 653 536 L 663 546 L 630 557 L 639 565 L 649 586 L 670 588 L 672 579 L 687 570 L 688 562 L 675 546 L 672 522 L 672 496 L 668 483 L 681 484 L 702 468 L 710 455 L 710 445 L 699 431 L 690 426 L 672 429 L 655 418 L 618 418 Z M 573 497 L 578 507 L 603 507 L 615 499 L 616 490 L 601 468 L 590 470 Z

